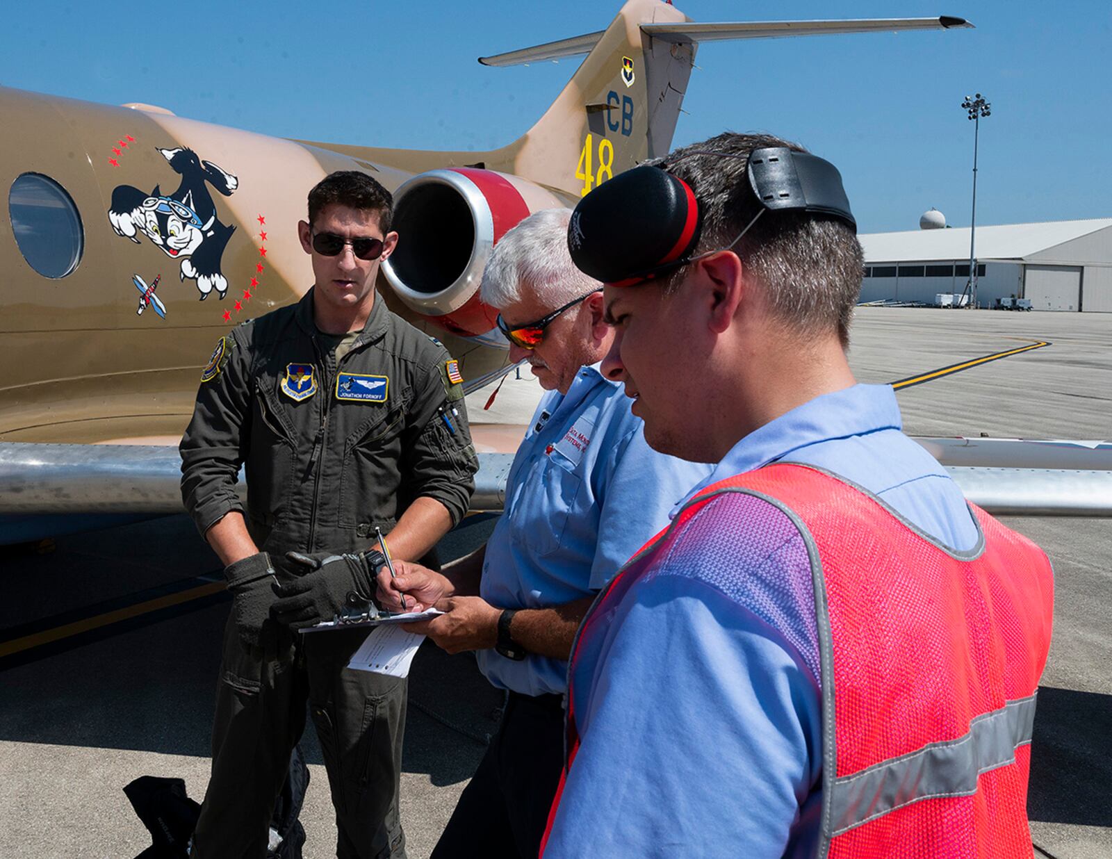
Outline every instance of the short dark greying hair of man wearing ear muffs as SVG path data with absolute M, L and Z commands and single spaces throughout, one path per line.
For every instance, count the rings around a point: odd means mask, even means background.
M 755 149 L 782 146 L 806 151 L 771 135 L 725 131 L 676 149 L 657 162 L 695 191 L 703 216 L 696 253 L 728 246 L 761 210 L 746 178 L 748 156 Z M 766 211 L 734 250 L 764 287 L 778 319 L 803 334 L 836 328 L 842 345 L 848 346 L 864 255 L 846 224 L 807 213 Z M 684 275 L 681 268 L 665 284 L 665 292 L 678 288 Z

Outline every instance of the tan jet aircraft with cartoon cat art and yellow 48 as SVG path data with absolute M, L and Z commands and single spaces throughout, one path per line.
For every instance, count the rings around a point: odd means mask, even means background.
M 529 213 L 666 152 L 699 42 L 969 26 L 695 23 L 628 0 L 604 31 L 480 58 L 587 55 L 532 129 L 485 152 L 286 140 L 0 88 L 0 350 L 19 365 L 0 382 L 0 514 L 180 510 L 176 452 L 142 445 L 177 443 L 224 332 L 311 284 L 294 225 L 326 174 L 365 170 L 395 192 L 400 241 L 379 293 L 444 340 L 474 389 L 507 368 L 476 294 L 490 249 Z M 506 467 L 484 461 L 480 506 L 500 505 Z

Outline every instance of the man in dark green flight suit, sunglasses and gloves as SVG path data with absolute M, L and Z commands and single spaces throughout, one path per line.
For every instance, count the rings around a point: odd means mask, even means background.
M 336 807 L 337 855 L 405 856 L 406 681 L 346 668 L 366 628 L 296 633 L 374 594 L 377 562 L 335 555 L 373 549 L 381 529 L 395 557 L 419 559 L 474 491 L 454 362 L 375 300 L 379 263 L 397 243 L 391 206 L 355 171 L 309 192 L 298 228 L 314 287 L 220 339 L 181 440 L 186 507 L 234 594 L 193 857 L 266 855 L 306 701 Z M 235 493 L 241 464 L 246 511 Z

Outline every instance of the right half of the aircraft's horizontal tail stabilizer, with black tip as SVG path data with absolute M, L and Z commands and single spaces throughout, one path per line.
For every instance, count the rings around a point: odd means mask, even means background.
M 791 36 L 833 36 L 898 30 L 951 30 L 973 27 L 964 18 L 878 18 L 855 21 L 745 21 L 742 23 L 643 23 L 642 32 L 671 42 L 713 42 L 732 39 L 783 39 Z

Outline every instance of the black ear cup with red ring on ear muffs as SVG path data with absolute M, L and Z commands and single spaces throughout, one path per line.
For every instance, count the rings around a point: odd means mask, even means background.
M 658 167 L 635 167 L 579 200 L 568 224 L 572 260 L 605 284 L 641 279 L 688 256 L 698 241 L 692 189 Z

